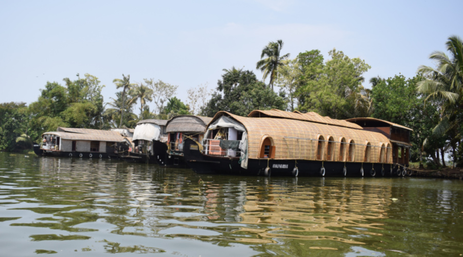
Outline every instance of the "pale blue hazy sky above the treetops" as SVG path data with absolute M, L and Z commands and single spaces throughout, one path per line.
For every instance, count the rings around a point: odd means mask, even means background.
M 216 89 L 223 69 L 256 69 L 262 48 L 284 42 L 290 58 L 336 48 L 372 77 L 414 77 L 429 55 L 463 37 L 463 1 L 7 1 L 0 0 L 0 103 L 37 101 L 47 81 L 96 76 L 105 102 L 113 80 L 162 80 Z M 268 82 L 268 81 L 266 81 Z M 149 103 L 151 109 L 154 104 Z

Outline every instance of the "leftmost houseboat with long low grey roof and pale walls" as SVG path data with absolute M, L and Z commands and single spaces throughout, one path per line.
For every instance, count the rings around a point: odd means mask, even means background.
M 124 140 L 130 141 L 117 131 L 58 127 L 55 132 L 42 134 L 34 152 L 39 156 L 112 158 L 117 157 L 117 143 Z

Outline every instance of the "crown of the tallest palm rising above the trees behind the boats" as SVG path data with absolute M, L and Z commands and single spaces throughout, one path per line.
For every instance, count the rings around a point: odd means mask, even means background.
M 283 41 L 280 39 L 277 42 L 270 42 L 262 49 L 260 61 L 257 62 L 256 68 L 263 72 L 262 80 L 265 80 L 270 75 L 269 86 L 278 77 L 278 66 L 283 65 L 282 61 L 290 56 L 289 53 L 280 57 L 281 48 L 283 48 Z M 266 57 L 265 59 L 262 59 Z

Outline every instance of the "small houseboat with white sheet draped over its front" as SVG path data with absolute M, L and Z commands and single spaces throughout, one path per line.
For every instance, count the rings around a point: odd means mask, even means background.
M 133 131 L 133 144 L 126 146 L 127 151 L 119 151 L 119 158 L 128 162 L 157 163 L 153 142 L 167 141 L 166 123 L 167 120 L 156 119 L 138 121 Z

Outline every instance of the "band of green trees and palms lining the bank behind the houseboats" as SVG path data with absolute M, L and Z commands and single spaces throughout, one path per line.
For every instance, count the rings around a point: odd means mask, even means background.
M 313 49 L 289 59 L 289 53 L 281 54 L 283 41 L 277 40 L 264 46 L 256 60 L 262 80 L 251 70 L 223 69 L 215 90 L 207 85 L 190 88 L 187 104 L 175 96 L 177 85 L 155 79 L 133 84 L 130 75 L 114 79 L 120 91 L 104 103 L 104 85 L 98 78 L 77 74 L 74 81 L 63 79 L 64 85 L 47 82 L 29 106 L 1 103 L 0 150 L 28 149 L 43 132 L 58 126 L 134 127 L 141 119 L 183 114 L 213 117 L 218 111 L 246 116 L 254 109 L 276 108 L 334 119 L 374 117 L 398 123 L 414 130 L 411 161 L 441 167 L 447 154 L 452 163 L 463 166 L 463 43 L 458 36 L 450 36 L 445 45 L 447 52 L 430 55 L 436 67 L 420 66 L 413 78 L 378 76 L 368 85 L 363 76 L 371 67 L 360 58 L 332 49 L 325 60 Z M 264 82 L 267 78 L 269 84 Z

